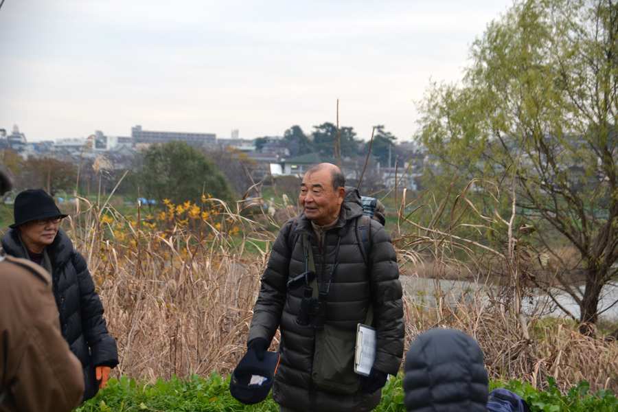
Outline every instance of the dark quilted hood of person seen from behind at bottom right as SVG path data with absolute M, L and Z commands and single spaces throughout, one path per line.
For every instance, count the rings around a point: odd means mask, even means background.
M 408 412 L 485 412 L 489 380 L 477 341 L 432 329 L 408 348 L 403 387 Z

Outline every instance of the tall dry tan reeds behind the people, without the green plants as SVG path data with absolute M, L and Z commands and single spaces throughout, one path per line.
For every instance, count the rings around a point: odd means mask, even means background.
M 87 257 L 108 327 L 117 339 L 116 374 L 155 380 L 213 370 L 227 374 L 233 369 L 245 351 L 274 236 L 268 231 L 268 225 L 275 225 L 271 216 L 247 217 L 241 209 L 259 204 L 259 199 L 243 198 L 232 210 L 205 200 L 199 213 L 196 205 L 182 210 L 187 214 L 193 208 L 194 225 L 179 214 L 168 214 L 165 225 L 157 226 L 152 216 L 141 216 L 141 209 L 137 220 L 131 220 L 108 202 L 77 199 L 67 231 Z M 170 206 L 174 215 L 175 206 Z M 410 222 L 402 210 L 399 230 Z M 424 264 L 420 251 L 433 251 L 439 279 L 444 268 L 461 268 L 459 262 L 446 260 L 445 249 L 472 250 L 470 243 L 453 242 L 446 233 L 410 227 L 407 233 L 393 233 L 400 263 L 409 273 Z M 507 256 L 496 255 L 506 259 L 507 266 L 513 264 Z M 424 330 L 457 328 L 479 341 L 492 378 L 516 378 L 539 389 L 547 386 L 547 376 L 564 389 L 586 379 L 592 389 L 618 390 L 615 342 L 582 336 L 575 323 L 534 313 L 527 313 L 522 325 L 513 308 L 514 290 L 512 283 L 499 289 L 481 285 L 457 295 L 437 287 L 426 292 L 426 304 L 416 304 L 404 294 L 406 347 Z

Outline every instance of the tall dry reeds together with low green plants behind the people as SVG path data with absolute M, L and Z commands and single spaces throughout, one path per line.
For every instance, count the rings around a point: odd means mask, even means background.
M 430 220 L 437 221 L 445 202 L 410 200 L 406 190 L 393 194 L 399 197 L 393 196 L 398 200 L 387 229 L 402 271 L 414 276 L 429 265 L 439 280 L 447 269 L 453 278 L 483 268 L 503 278 L 492 287 L 477 282 L 477 288 L 461 295 L 437 284 L 422 293 L 420 303 L 404 290 L 406 346 L 431 328 L 464 330 L 481 345 L 490 378 L 517 380 L 510 385 L 535 410 L 615 410 L 613 396 L 597 392 L 618 391 L 615 341 L 602 333 L 580 334 L 577 321 L 548 319 L 543 306 L 523 308 L 523 301 L 538 293 L 531 287 L 531 274 L 545 268 L 530 259 L 534 249 L 517 238 L 514 208 L 512 216 L 503 218 L 496 211 L 486 227 L 475 228 L 507 233 L 505 244 L 492 249 L 456 236 L 453 225 L 420 224 L 416 214 L 433 215 Z M 242 410 L 220 376 L 229 375 L 246 352 L 260 275 L 282 222 L 275 216 L 283 211 L 285 220 L 295 213 L 285 207 L 289 199 L 282 196 L 264 208 L 261 198 L 226 203 L 202 196 L 197 203 L 163 201 L 152 214 L 138 204 L 127 214 L 112 207 L 111 196 L 76 197 L 61 205 L 72 208 L 65 209 L 70 217 L 62 229 L 87 259 L 117 339 L 120 364 L 114 376 L 140 380 L 111 380 L 111 387 L 82 411 Z M 465 191 L 457 196 L 459 205 L 473 207 L 467 196 Z M 496 192 L 496 203 L 501 196 Z M 459 213 L 455 207 L 450 211 L 455 224 Z M 468 260 L 457 260 L 458 253 Z M 271 349 L 278 343 L 275 336 Z M 211 378 L 198 378 L 211 371 L 216 371 Z M 400 380 L 390 385 L 381 408 L 402 410 Z M 588 387 L 598 395 L 580 399 Z M 273 404 L 266 402 L 247 410 L 269 407 Z

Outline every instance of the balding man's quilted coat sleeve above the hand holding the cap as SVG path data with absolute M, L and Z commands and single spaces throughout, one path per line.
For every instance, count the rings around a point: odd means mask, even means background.
M 293 219 L 288 220 L 279 231 L 268 258 L 266 270 L 262 274 L 262 288 L 253 307 L 253 319 L 251 319 L 247 342 L 255 338 L 264 338 L 270 342 L 279 328 L 287 295 L 286 284 L 290 270 L 288 233 L 292 222 Z

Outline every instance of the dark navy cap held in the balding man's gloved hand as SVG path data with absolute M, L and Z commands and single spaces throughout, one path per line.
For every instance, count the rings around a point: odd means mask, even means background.
M 260 361 L 255 350 L 247 351 L 242 356 L 229 381 L 229 393 L 240 402 L 252 405 L 262 402 L 275 382 L 281 354 L 264 352 L 264 361 Z

